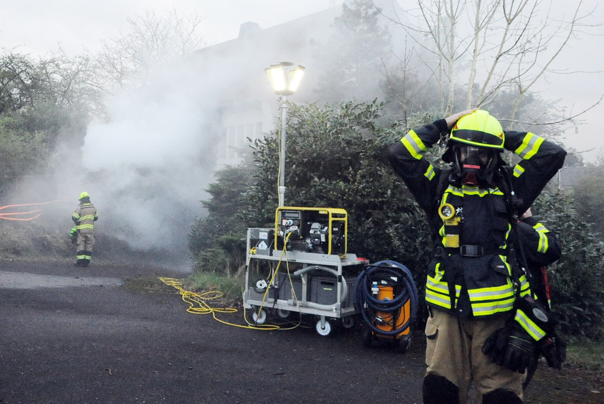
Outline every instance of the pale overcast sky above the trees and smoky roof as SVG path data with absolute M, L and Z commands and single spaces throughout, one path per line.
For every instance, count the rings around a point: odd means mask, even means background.
M 399 1 L 400 4 L 408 4 Z M 597 0 L 583 0 L 585 10 L 597 6 Z M 239 26 L 247 21 L 257 22 L 261 28 L 291 21 L 292 19 L 341 4 L 340 0 L 1 0 L 0 47 L 20 46 L 19 51 L 33 56 L 56 50 L 58 44 L 68 54 L 82 53 L 83 48 L 96 51 L 100 39 L 116 36 L 127 30 L 126 18 L 144 15 L 146 10 L 156 13 L 174 7 L 179 12 L 196 10 L 205 16 L 202 33 L 208 45 L 237 37 Z M 568 10 L 567 0 L 554 0 L 554 9 Z M 604 22 L 604 5 L 596 7 L 594 15 L 585 24 Z M 549 82 L 541 89 L 546 98 L 561 100 L 568 111 L 574 113 L 586 109 L 604 94 L 604 27 L 589 28 L 591 33 L 579 33 L 559 57 L 558 63 L 568 63 L 568 71 L 582 71 L 573 75 L 550 75 Z M 272 61 L 268 61 L 272 62 Z M 564 62 L 564 63 L 562 63 Z M 597 73 L 587 73 L 595 72 Z M 260 72 L 259 74 L 263 74 Z M 579 133 L 568 133 L 566 143 L 577 150 L 595 149 L 586 155 L 593 159 L 604 147 L 604 133 L 599 123 L 604 116 L 604 104 L 594 107 L 583 115 L 585 124 Z

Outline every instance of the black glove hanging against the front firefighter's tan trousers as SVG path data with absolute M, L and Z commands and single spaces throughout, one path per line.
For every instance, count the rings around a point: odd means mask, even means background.
M 535 339 L 513 326 L 496 330 L 483 345 L 483 353 L 491 362 L 518 373 L 524 373 L 533 361 L 534 352 Z

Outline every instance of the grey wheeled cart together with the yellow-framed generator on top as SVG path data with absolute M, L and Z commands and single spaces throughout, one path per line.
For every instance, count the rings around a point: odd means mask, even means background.
M 279 207 L 274 228 L 249 228 L 243 306 L 256 324 L 269 314 L 316 316 L 316 332 L 350 328 L 359 311 L 355 281 L 367 260 L 347 252 L 341 208 Z

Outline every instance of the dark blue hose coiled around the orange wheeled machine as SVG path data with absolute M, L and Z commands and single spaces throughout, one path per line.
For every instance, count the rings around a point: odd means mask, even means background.
M 393 284 L 393 277 L 396 278 L 396 284 Z M 379 300 L 373 297 L 371 286 L 374 281 L 382 284 L 382 280 L 390 283 L 390 286 L 396 286 L 400 289 L 392 300 Z M 416 319 L 417 316 L 417 287 L 413 280 L 413 275 L 409 269 L 396 261 L 378 261 L 367 268 L 356 279 L 355 285 L 356 303 L 361 309 L 361 315 L 364 321 L 369 325 L 374 333 L 380 335 L 397 335 L 405 330 Z M 391 331 L 382 330 L 373 324 L 376 312 L 396 312 L 402 309 L 407 302 L 410 302 L 410 318 L 400 325 L 397 329 Z M 396 321 L 395 321 L 396 324 Z

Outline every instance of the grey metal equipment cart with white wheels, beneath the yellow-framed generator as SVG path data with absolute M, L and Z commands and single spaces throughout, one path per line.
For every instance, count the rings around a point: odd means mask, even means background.
M 353 299 L 355 281 L 367 260 L 359 260 L 355 254 L 340 257 L 273 250 L 269 248 L 272 231 L 268 228 L 248 229 L 243 306 L 254 310 L 252 319 L 256 324 L 265 322 L 266 312 L 274 309 L 282 318 L 287 318 L 291 313 L 318 316 L 316 332 L 323 336 L 332 332 L 336 319 L 345 328 L 352 327 L 352 316 L 359 313 Z M 264 287 L 258 287 L 250 280 L 254 260 L 265 261 L 271 268 L 268 279 L 260 281 L 264 281 L 260 285 Z M 288 266 L 292 264 L 298 269 L 288 274 Z M 277 267 L 277 275 L 271 283 Z M 251 281 L 253 284 L 250 284 Z M 265 293 L 267 287 L 269 291 Z

